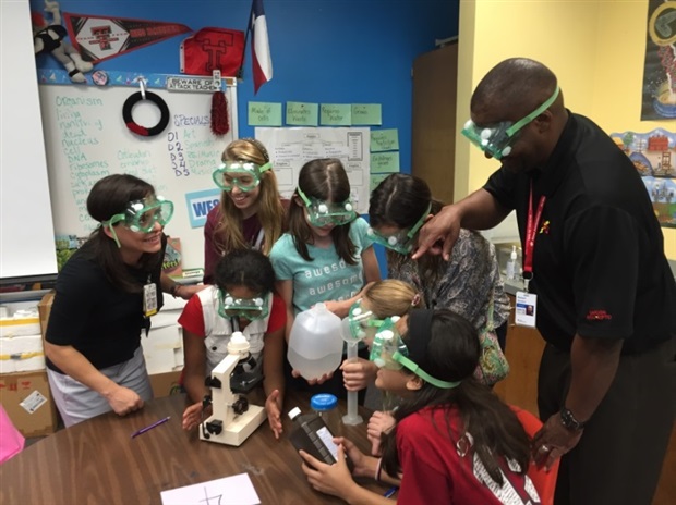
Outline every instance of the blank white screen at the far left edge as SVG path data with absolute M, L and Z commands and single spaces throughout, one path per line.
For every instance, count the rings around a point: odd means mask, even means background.
M 0 278 L 57 273 L 28 0 L 0 4 Z

